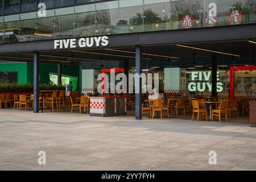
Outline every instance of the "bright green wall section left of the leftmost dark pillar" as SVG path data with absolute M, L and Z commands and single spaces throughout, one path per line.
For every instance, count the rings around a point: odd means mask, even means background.
M 27 63 L 0 63 L 0 72 L 18 72 L 18 83 L 30 82 L 27 70 Z

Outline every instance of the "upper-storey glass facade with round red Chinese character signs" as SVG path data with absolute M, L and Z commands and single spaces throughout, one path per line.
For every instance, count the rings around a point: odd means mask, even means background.
M 0 43 L 249 23 L 256 0 L 0 0 Z

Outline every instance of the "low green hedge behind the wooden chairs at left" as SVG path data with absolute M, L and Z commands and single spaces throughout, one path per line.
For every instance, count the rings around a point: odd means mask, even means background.
M 34 85 L 28 84 L 18 84 L 18 83 L 0 83 L 0 92 L 11 93 L 11 92 L 33 92 Z M 55 85 L 55 84 L 40 84 L 39 90 L 65 90 L 65 85 Z

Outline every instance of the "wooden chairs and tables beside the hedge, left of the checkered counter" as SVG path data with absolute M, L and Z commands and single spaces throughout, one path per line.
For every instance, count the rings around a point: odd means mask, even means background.
M 33 110 L 34 94 L 1 94 L 0 109 Z M 70 111 L 79 108 L 89 113 L 89 96 L 80 92 L 64 90 L 42 90 L 39 92 L 39 109 L 43 112 Z

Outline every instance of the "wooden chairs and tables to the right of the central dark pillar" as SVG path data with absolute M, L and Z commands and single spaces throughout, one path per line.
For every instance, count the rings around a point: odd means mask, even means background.
M 245 118 L 249 115 L 250 99 L 237 97 L 233 100 L 229 98 L 217 97 L 181 97 L 165 96 L 154 100 L 144 100 L 142 104 L 142 114 L 149 118 L 175 118 L 190 117 L 200 121 L 226 121 L 230 118 Z M 167 103 L 167 104 L 165 104 Z M 218 120 L 216 120 L 218 119 Z

